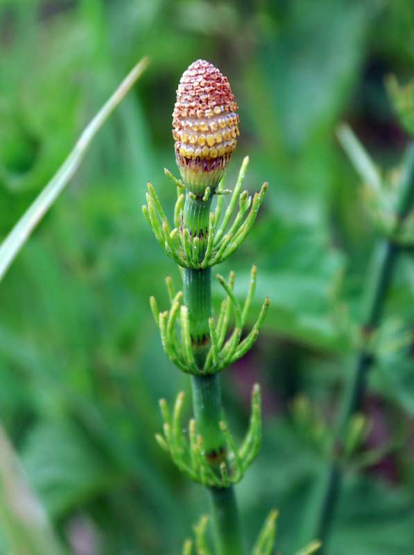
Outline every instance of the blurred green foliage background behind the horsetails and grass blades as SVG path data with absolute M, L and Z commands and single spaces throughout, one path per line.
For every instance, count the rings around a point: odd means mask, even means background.
M 254 350 L 223 373 L 236 438 L 252 384 L 264 394 L 264 445 L 236 492 L 246 543 L 277 507 L 277 550 L 293 552 L 325 461 L 292 407 L 305 396 L 334 420 L 376 238 L 335 128 L 349 122 L 386 171 L 399 162 L 406 136 L 383 79 L 412 75 L 413 2 L 0 0 L 0 44 L 0 239 L 121 78 L 151 60 L 0 286 L 0 421 L 55 529 L 78 555 L 167 555 L 207 510 L 154 440 L 157 400 L 183 389 L 186 419 L 191 403 L 148 302 L 164 306 L 165 275 L 179 287 L 180 274 L 141 214 L 147 180 L 173 210 L 175 90 L 204 58 L 239 104 L 226 186 L 245 155 L 245 187 L 270 183 L 255 229 L 219 268 L 236 271 L 243 295 L 257 264 L 252 321 L 271 300 Z M 391 448 L 347 472 L 332 554 L 414 552 L 413 276 L 403 257 L 365 400 L 368 447 Z

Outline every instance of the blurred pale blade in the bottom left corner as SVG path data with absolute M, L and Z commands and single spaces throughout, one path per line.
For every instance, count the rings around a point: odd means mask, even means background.
M 0 427 L 0 528 L 16 555 L 64 555 L 42 505 L 28 486 L 19 460 Z

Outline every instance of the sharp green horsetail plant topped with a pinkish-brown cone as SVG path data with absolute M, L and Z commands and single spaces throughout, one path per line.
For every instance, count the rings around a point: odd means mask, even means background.
M 181 179 L 165 170 L 178 192 L 173 225 L 150 183 L 143 206 L 144 216 L 160 246 L 182 268 L 182 291 L 176 292 L 171 278 L 166 278 L 170 308 L 159 311 L 154 297 L 150 305 L 166 355 L 191 375 L 194 411 L 186 438 L 181 424 L 184 393 L 178 394 L 172 412 L 166 401 L 161 400 L 164 429 L 156 438 L 184 475 L 208 488 L 216 555 L 244 553 L 233 486 L 242 479 L 261 443 L 259 385 L 252 391 L 250 424 L 239 447 L 223 418 L 218 373 L 252 347 L 269 305 L 266 298 L 255 325 L 242 339 L 255 292 L 257 269 L 252 266 L 248 295 L 242 304 L 234 293 L 234 272 L 230 272 L 228 280 L 216 274 L 225 299 L 216 318 L 212 311 L 211 268 L 232 255 L 248 235 L 268 185 L 264 183 L 253 197 L 241 190 L 248 166 L 245 157 L 233 191 L 223 186 L 223 176 L 239 135 L 236 110 L 227 78 L 216 67 L 196 60 L 184 71 L 173 112 L 175 157 Z M 230 200 L 223 210 L 225 195 Z M 217 202 L 212 210 L 214 196 Z M 232 321 L 235 325 L 230 330 Z M 276 511 L 271 511 L 252 555 L 272 552 L 276 517 Z M 206 524 L 206 518 L 202 518 L 194 527 L 198 555 L 210 553 L 205 543 Z M 313 542 L 300 553 L 310 554 L 318 547 Z M 193 542 L 187 540 L 182 554 L 192 552 Z

